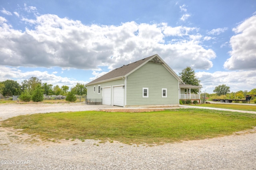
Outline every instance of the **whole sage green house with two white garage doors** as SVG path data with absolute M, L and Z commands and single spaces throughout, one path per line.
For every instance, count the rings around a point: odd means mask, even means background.
M 122 107 L 179 106 L 180 92 L 185 94 L 190 88 L 199 88 L 183 85 L 180 77 L 156 54 L 89 82 L 87 99 Z M 182 97 L 188 98 L 187 95 Z

